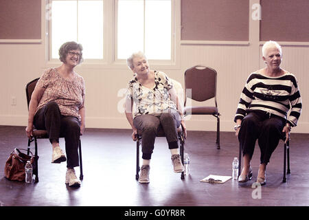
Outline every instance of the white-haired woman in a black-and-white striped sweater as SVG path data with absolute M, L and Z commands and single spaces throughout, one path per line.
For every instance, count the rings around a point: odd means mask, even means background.
M 271 154 L 279 140 L 285 135 L 287 141 L 291 127 L 297 125 L 301 113 L 301 96 L 295 76 L 280 68 L 280 45 L 268 41 L 262 47 L 262 54 L 266 67 L 253 72 L 247 79 L 234 121 L 244 157 L 244 167 L 238 182 L 248 181 L 252 177 L 250 161 L 258 140 L 261 157 L 256 181 L 264 185 L 266 165 Z

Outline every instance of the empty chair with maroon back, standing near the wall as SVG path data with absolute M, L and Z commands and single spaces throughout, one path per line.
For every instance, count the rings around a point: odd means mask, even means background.
M 217 72 L 210 67 L 196 65 L 185 71 L 185 115 L 214 115 L 217 118 L 216 146 L 220 149 L 220 113 L 216 100 Z M 214 106 L 186 106 L 187 98 L 204 102 L 214 98 Z

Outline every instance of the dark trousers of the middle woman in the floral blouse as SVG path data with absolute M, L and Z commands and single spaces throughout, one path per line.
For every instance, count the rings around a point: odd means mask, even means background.
M 160 126 L 163 128 L 168 148 L 178 148 L 177 128 L 180 126 L 180 116 L 176 111 L 161 113 L 160 115 L 138 115 L 133 124 L 137 130 L 141 130 L 143 140 L 141 141 L 141 152 L 143 159 L 151 159 L 155 148 L 155 138 Z

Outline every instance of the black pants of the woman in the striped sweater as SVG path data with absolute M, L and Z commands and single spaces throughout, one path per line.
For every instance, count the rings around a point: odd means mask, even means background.
M 264 111 L 251 111 L 242 120 L 238 133 L 238 140 L 242 148 L 242 155 L 248 154 L 252 158 L 255 142 L 260 146 L 261 164 L 268 164 L 271 154 L 277 148 L 283 137 L 282 129 L 286 120 L 277 115 L 269 115 Z

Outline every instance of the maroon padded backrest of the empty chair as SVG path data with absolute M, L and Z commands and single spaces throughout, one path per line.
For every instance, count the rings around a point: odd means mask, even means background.
M 203 102 L 215 98 L 216 103 L 217 72 L 210 67 L 196 65 L 185 71 L 185 102 L 188 98 Z M 187 89 L 191 89 L 191 97 Z M 217 105 L 217 104 L 216 104 Z

